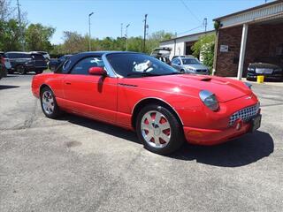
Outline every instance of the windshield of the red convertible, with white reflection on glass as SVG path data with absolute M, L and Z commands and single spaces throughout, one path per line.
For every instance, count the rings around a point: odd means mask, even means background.
M 114 71 L 122 77 L 148 77 L 180 73 L 157 58 L 136 53 L 114 53 L 107 56 Z

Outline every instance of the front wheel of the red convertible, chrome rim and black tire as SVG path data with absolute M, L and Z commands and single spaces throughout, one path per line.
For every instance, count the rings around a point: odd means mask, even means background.
M 150 104 L 136 119 L 136 132 L 144 148 L 159 155 L 168 155 L 184 141 L 182 126 L 177 117 L 164 106 Z

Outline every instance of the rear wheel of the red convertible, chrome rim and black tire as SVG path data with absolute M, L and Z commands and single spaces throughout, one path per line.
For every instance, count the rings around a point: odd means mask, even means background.
M 41 92 L 42 111 L 46 117 L 57 118 L 61 115 L 61 111 L 57 106 L 55 95 L 50 87 L 43 87 Z

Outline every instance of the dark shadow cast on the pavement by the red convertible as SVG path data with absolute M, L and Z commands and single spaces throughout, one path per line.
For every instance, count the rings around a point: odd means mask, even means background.
M 74 125 L 81 125 L 90 129 L 111 134 L 124 140 L 141 143 L 136 134 L 114 125 L 104 124 L 85 117 L 77 117 L 67 114 L 62 120 L 67 120 Z M 269 133 L 256 131 L 242 136 L 239 139 L 230 140 L 216 146 L 197 146 L 184 143 L 182 148 L 172 155 L 176 160 L 196 161 L 220 167 L 239 167 L 255 163 L 256 161 L 271 155 L 274 142 Z

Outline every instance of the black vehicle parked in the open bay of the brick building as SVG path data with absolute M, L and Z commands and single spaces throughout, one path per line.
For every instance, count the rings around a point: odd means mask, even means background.
M 259 57 L 255 63 L 249 64 L 247 79 L 256 79 L 263 75 L 265 79 L 283 80 L 283 58 L 282 57 Z

